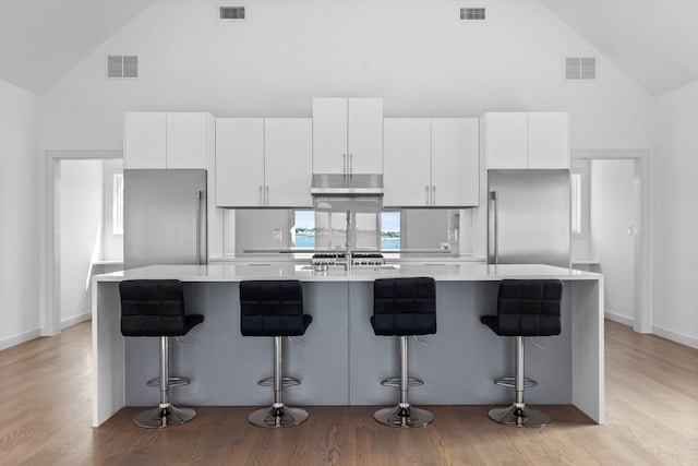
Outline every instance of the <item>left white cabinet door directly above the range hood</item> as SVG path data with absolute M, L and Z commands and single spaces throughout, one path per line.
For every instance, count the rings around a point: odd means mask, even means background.
M 347 167 L 347 99 L 313 99 L 313 172 L 344 174 Z

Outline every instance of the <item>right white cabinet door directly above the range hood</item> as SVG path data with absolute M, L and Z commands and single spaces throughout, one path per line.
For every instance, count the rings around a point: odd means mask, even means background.
M 348 164 L 352 174 L 383 172 L 383 99 L 350 98 Z

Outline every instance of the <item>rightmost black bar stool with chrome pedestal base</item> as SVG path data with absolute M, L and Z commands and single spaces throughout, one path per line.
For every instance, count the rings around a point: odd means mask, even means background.
M 563 283 L 556 279 L 504 280 L 500 284 L 497 314 L 480 321 L 500 336 L 516 337 L 516 377 L 497 379 L 497 385 L 514 386 L 516 401 L 507 408 L 493 408 L 490 418 L 514 427 L 543 427 L 551 418 L 524 403 L 524 389 L 535 381 L 524 377 L 524 337 L 559 335 Z

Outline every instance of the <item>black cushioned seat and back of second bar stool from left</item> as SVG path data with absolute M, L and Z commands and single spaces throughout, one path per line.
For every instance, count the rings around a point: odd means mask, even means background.
M 313 321 L 303 314 L 303 297 L 297 280 L 241 282 L 240 333 L 243 336 L 304 335 Z

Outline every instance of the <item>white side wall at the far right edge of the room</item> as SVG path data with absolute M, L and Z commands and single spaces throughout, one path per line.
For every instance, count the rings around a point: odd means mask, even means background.
M 653 333 L 698 347 L 698 81 L 657 98 Z

